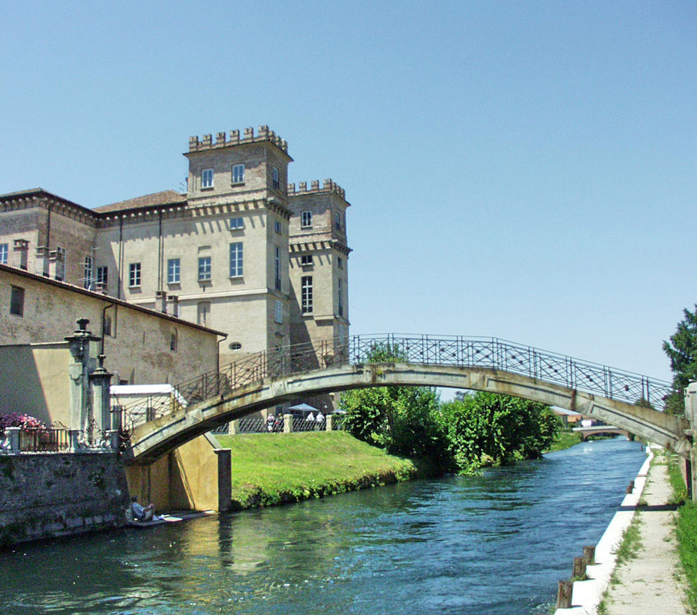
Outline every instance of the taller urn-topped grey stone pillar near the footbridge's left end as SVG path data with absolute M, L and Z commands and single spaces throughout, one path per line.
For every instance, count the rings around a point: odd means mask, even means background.
M 75 333 L 66 337 L 73 362 L 68 366 L 70 377 L 70 412 L 68 429 L 84 431 L 91 420 L 89 374 L 96 369 L 96 355 L 100 338 L 87 331 L 89 320 L 79 318 Z

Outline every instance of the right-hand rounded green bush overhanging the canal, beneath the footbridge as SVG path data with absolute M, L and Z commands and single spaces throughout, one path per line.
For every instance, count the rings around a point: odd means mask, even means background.
M 561 427 L 544 403 L 486 392 L 444 403 L 439 424 L 449 455 L 464 474 L 515 459 L 537 459 Z

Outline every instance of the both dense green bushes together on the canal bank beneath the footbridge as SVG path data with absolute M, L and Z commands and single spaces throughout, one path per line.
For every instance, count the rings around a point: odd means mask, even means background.
M 341 403 L 352 436 L 460 474 L 539 459 L 561 427 L 543 403 L 486 392 L 439 403 L 427 387 L 378 387 L 347 392 Z

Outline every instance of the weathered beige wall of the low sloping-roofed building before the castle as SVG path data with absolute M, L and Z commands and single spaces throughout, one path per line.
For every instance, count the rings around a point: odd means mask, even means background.
M 22 316 L 8 309 L 13 286 L 24 290 Z M 218 365 L 214 330 L 10 267 L 0 266 L 0 305 L 4 346 L 63 341 L 75 330 L 76 318 L 89 318 L 88 329 L 101 336 L 105 316 L 110 321 L 103 340 L 105 368 L 117 374 L 114 384 L 176 384 Z

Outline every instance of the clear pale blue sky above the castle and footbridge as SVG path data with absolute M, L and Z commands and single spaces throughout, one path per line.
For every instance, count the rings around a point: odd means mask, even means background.
M 353 333 L 657 378 L 697 302 L 694 2 L 6 3 L 0 193 L 178 189 L 269 126 L 352 203 Z

